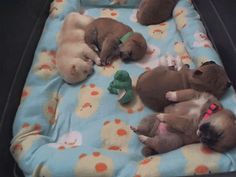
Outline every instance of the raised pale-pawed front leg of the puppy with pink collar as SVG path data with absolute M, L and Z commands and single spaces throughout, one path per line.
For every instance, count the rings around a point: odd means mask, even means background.
M 169 91 L 166 93 L 166 98 L 169 101 L 182 102 L 191 100 L 193 98 L 198 98 L 200 95 L 201 93 L 194 89 L 184 89 L 178 91 Z

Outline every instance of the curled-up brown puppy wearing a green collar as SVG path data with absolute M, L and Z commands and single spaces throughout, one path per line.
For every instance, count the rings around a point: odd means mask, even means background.
M 85 42 L 100 53 L 102 65 L 110 64 L 114 57 L 135 61 L 146 54 L 147 43 L 143 36 L 116 20 L 98 18 L 85 31 Z

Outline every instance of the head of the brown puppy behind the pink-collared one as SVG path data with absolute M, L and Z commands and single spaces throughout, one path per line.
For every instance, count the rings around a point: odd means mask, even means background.
M 190 82 L 194 89 L 212 93 L 217 98 L 221 98 L 231 86 L 224 68 L 213 61 L 206 62 L 193 71 Z

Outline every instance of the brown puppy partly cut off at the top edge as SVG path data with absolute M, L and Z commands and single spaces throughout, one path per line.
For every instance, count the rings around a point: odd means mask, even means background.
M 143 25 L 162 23 L 172 17 L 178 0 L 142 0 L 137 11 L 137 20 Z

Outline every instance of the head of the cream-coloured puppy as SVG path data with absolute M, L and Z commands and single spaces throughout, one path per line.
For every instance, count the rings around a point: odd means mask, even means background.
M 93 73 L 93 63 L 78 59 L 70 63 L 68 67 L 65 67 L 63 72 L 59 71 L 59 73 L 67 83 L 76 84 Z

